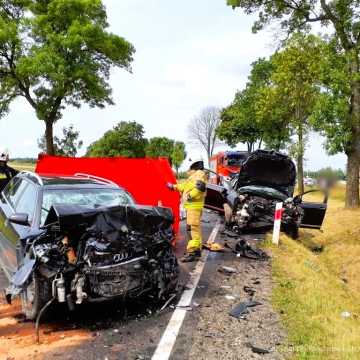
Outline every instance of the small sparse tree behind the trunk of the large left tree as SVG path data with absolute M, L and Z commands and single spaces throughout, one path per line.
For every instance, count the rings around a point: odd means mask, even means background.
M 76 156 L 78 150 L 82 147 L 83 142 L 79 138 L 79 131 L 74 130 L 74 125 L 62 129 L 63 137 L 59 138 L 54 136 L 54 150 L 55 155 L 61 156 Z M 39 148 L 46 151 L 46 138 L 45 135 L 38 140 Z

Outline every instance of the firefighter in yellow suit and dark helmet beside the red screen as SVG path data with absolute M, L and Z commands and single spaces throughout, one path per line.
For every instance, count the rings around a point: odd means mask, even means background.
M 204 162 L 199 159 L 191 161 L 188 179 L 185 182 L 167 184 L 170 190 L 180 192 L 186 210 L 187 247 L 186 254 L 181 259 L 182 262 L 196 261 L 201 257 L 201 215 L 204 208 L 207 180 Z

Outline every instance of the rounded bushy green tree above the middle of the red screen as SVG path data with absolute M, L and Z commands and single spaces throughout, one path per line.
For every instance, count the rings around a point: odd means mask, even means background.
M 144 138 L 143 126 L 135 121 L 122 121 L 92 143 L 88 147 L 86 155 L 90 157 L 142 158 L 145 157 L 146 145 L 147 140 Z

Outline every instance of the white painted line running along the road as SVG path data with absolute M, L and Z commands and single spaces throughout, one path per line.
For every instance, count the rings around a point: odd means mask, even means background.
M 209 236 L 208 241 L 215 241 L 219 229 L 220 222 L 217 222 Z M 194 271 L 191 273 L 190 280 L 186 286 L 188 289 L 184 290 L 183 294 L 181 295 L 180 301 L 177 304 L 177 308 L 172 314 L 168 326 L 166 327 L 165 332 L 160 339 L 158 347 L 156 348 L 155 353 L 151 358 L 152 360 L 168 360 L 170 358 L 177 336 L 179 335 L 180 328 L 185 319 L 187 309 L 191 306 L 191 300 L 194 296 L 201 274 L 204 270 L 208 255 L 209 252 L 206 252 L 201 261 L 198 261 Z

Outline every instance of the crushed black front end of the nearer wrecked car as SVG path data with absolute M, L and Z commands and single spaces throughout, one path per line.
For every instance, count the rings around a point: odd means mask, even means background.
M 145 294 L 166 299 L 179 275 L 172 224 L 171 210 L 162 207 L 55 205 L 43 229 L 21 241 L 22 265 L 7 299 L 21 294 L 32 319 L 51 300 L 73 310 L 84 302 Z

